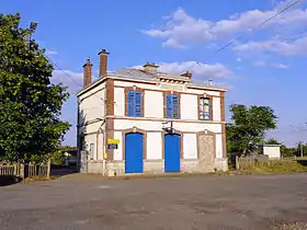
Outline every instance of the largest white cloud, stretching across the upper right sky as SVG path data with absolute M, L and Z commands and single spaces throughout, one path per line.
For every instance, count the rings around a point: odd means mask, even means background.
M 182 48 L 191 44 L 225 41 L 234 38 L 238 33 L 259 30 L 259 24 L 274 15 L 281 7 L 288 5 L 288 1 L 280 1 L 273 10 L 250 10 L 220 21 L 196 19 L 183 9 L 178 9 L 164 16 L 166 24 L 160 28 L 143 31 L 148 36 L 163 39 L 164 47 Z M 307 10 L 293 8 L 268 22 L 264 26 L 275 30 L 297 30 L 307 23 Z

